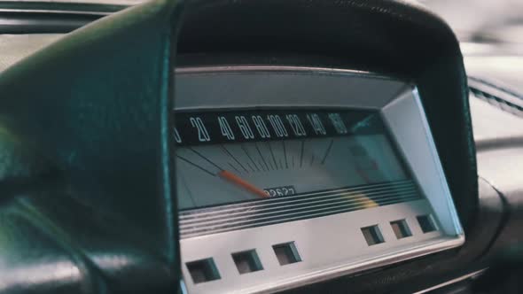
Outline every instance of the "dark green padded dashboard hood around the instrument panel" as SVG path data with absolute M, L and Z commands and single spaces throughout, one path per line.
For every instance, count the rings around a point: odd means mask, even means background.
M 1 178 L 0 217 L 12 245 L 0 270 L 66 260 L 78 272 L 44 282 L 13 275 L 6 290 L 176 292 L 167 114 L 175 57 L 182 66 L 353 68 L 416 83 L 465 228 L 472 219 L 478 188 L 466 78 L 441 19 L 386 0 L 185 8 L 155 0 L 82 27 L 0 74 L 0 145 L 13 159 Z

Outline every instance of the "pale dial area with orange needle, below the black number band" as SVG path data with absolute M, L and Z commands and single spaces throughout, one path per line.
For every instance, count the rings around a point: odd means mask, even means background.
M 182 147 L 181 209 L 407 179 L 385 135 Z

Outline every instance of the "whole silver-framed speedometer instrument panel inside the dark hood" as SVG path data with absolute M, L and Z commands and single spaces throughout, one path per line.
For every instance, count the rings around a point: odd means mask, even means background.
M 188 67 L 174 112 L 189 293 L 284 290 L 464 242 L 408 82 Z

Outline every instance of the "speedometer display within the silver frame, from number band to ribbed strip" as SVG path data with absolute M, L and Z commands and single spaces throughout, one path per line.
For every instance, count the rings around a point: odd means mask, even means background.
M 182 236 L 418 199 L 379 112 L 176 112 Z

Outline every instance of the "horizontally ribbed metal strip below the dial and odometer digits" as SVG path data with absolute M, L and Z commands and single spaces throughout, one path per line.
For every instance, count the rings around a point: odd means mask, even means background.
M 225 209 L 222 209 L 220 206 L 216 207 L 215 213 L 209 213 L 208 209 L 204 209 L 204 212 L 201 214 L 190 211 L 188 216 L 181 215 L 181 237 L 204 236 L 243 228 L 255 228 L 287 221 L 299 221 L 337 213 L 347 213 L 376 206 L 393 205 L 418 200 L 421 198 L 421 195 L 418 193 L 415 183 L 410 182 L 410 185 L 406 185 L 399 190 L 392 183 L 386 190 L 379 190 L 378 192 L 363 193 L 356 190 L 352 194 L 335 193 L 332 196 L 309 196 L 301 199 L 299 205 L 293 203 L 285 204 L 285 202 L 293 201 L 289 201 L 287 198 L 289 197 L 269 199 L 279 200 L 279 203 L 273 203 L 270 205 L 271 207 L 263 209 L 258 209 L 257 204 L 262 206 L 264 201 L 255 201 L 249 203 L 246 207 L 235 209 L 237 213 L 230 213 L 226 206 Z M 318 200 L 318 198 L 320 199 Z

